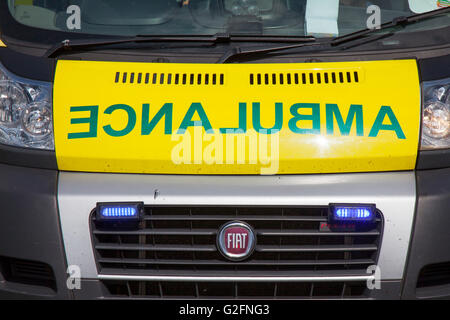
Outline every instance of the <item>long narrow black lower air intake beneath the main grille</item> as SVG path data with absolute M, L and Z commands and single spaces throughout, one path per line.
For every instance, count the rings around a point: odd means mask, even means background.
M 367 284 L 355 282 L 155 282 L 102 281 L 106 298 L 144 299 L 342 299 L 368 298 Z

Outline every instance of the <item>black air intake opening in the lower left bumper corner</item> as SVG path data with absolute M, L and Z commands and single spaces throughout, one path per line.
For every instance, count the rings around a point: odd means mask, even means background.
M 1 273 L 6 281 L 48 287 L 56 291 L 53 269 L 38 261 L 0 257 Z

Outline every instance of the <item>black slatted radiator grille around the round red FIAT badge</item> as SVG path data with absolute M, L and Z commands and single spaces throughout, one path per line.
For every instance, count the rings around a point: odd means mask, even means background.
M 299 276 L 367 275 L 376 264 L 382 216 L 361 229 L 330 231 L 328 207 L 152 207 L 138 229 L 102 227 L 91 216 L 97 266 L 104 274 Z M 94 213 L 94 212 L 93 212 Z M 257 234 L 246 260 L 226 260 L 216 235 L 229 221 Z

